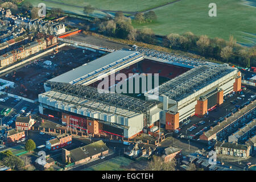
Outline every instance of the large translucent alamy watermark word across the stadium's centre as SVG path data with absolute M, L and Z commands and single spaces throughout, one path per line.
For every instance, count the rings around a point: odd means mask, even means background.
M 97 80 L 102 80 L 97 86 L 99 93 L 139 94 L 150 91 L 148 99 L 155 99 L 159 94 L 159 73 L 129 73 L 127 76 L 125 73 L 115 74 L 112 70 L 109 76 L 104 73 Z

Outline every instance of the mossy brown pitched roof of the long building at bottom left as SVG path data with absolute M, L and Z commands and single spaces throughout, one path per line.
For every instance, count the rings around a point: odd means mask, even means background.
M 72 160 L 76 162 L 107 150 L 109 150 L 109 148 L 106 144 L 102 140 L 99 140 L 86 146 L 71 150 L 70 155 Z

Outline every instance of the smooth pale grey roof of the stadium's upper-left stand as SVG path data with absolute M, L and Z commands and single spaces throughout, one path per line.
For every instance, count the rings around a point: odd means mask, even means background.
M 89 63 L 81 65 L 80 67 L 72 69 L 69 72 L 63 73 L 62 75 L 52 78 L 49 81 L 73 84 L 73 81 L 81 77 L 84 77 L 89 73 L 93 73 L 98 69 L 99 69 L 98 72 L 104 71 L 104 67 L 107 67 L 108 65 L 113 64 L 116 61 L 119 61 L 125 57 L 135 56 L 138 54 L 139 53 L 135 51 L 115 51 L 115 52 L 109 53 L 108 55 L 102 56 L 96 60 L 90 61 Z

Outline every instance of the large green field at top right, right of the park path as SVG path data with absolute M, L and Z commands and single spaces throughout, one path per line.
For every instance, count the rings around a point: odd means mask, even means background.
M 152 28 L 156 34 L 182 34 L 187 31 L 196 35 L 208 35 L 225 40 L 233 35 L 238 42 L 256 42 L 256 7 L 241 0 L 216 0 L 217 17 L 208 16 L 211 0 L 181 0 L 155 9 L 158 20 L 154 23 L 133 23 L 135 28 Z

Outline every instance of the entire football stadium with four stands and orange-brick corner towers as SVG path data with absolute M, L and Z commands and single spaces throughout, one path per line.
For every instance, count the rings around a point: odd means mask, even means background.
M 100 92 L 102 81 L 110 92 Z M 228 64 L 137 48 L 83 64 L 48 80 L 44 89 L 40 114 L 74 130 L 134 138 L 154 126 L 173 131 L 192 115 L 203 117 L 241 89 L 241 73 Z

